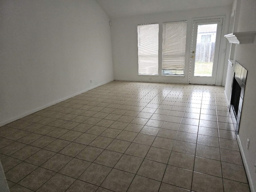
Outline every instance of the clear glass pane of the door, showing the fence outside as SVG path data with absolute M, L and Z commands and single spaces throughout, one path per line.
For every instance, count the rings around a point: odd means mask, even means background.
M 198 25 L 194 76 L 212 76 L 217 24 Z

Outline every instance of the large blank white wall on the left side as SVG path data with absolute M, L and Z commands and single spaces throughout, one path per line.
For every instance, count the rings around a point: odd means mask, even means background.
M 0 126 L 114 80 L 96 1 L 2 0 L 0 18 Z

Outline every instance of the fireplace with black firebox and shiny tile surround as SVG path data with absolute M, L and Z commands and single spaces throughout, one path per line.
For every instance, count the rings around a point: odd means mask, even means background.
M 235 73 L 230 100 L 230 114 L 232 116 L 232 121 L 235 127 L 236 134 L 238 134 L 242 104 L 244 100 L 247 70 L 236 61 L 234 64 L 234 72 Z

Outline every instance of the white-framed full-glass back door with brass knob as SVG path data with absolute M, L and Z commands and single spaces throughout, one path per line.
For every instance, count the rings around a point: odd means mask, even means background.
M 190 56 L 191 84 L 216 84 L 222 18 L 195 20 Z

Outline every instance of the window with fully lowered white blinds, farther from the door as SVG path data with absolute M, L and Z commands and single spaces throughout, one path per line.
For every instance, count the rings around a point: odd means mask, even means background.
M 139 74 L 158 74 L 158 24 L 138 25 Z

